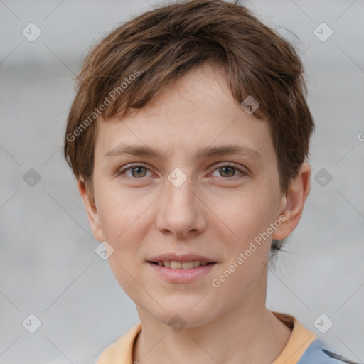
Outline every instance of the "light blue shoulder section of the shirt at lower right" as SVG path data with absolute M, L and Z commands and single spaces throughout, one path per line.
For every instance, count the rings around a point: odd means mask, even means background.
M 353 360 L 349 360 L 343 355 L 337 353 L 337 351 L 327 343 L 321 341 L 321 339 L 317 338 L 309 348 L 304 352 L 304 355 L 301 356 L 300 360 L 297 364 L 314 364 L 314 363 L 332 363 L 332 364 L 359 364 Z

